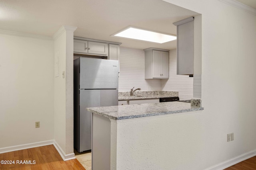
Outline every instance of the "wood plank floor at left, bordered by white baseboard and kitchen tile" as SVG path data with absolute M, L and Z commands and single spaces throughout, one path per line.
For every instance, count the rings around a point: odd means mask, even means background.
M 77 159 L 62 160 L 53 145 L 3 153 L 1 160 L 14 160 L 15 164 L 0 164 L 0 170 L 85 170 Z M 24 160 L 29 164 L 17 164 Z

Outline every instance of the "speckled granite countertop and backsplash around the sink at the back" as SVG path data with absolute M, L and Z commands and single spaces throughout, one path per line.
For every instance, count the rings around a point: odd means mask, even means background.
M 130 96 L 130 92 L 118 92 L 118 100 L 143 100 L 143 99 L 159 99 L 168 97 L 178 97 L 178 92 L 172 91 L 136 91 L 134 96 Z

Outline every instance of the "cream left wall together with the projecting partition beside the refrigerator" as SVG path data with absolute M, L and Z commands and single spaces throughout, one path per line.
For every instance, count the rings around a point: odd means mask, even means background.
M 0 153 L 54 144 L 73 159 L 73 37 L 63 26 L 52 37 L 0 30 Z M 54 55 L 59 76 L 54 78 Z M 62 72 L 64 71 L 64 78 Z M 40 121 L 40 128 L 35 122 Z

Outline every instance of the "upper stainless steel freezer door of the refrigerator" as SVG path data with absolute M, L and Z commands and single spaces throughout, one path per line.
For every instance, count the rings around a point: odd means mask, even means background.
M 80 89 L 117 89 L 118 61 L 80 57 Z

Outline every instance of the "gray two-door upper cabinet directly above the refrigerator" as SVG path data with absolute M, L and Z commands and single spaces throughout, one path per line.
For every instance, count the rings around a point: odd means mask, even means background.
M 74 39 L 74 53 L 108 55 L 107 43 Z

